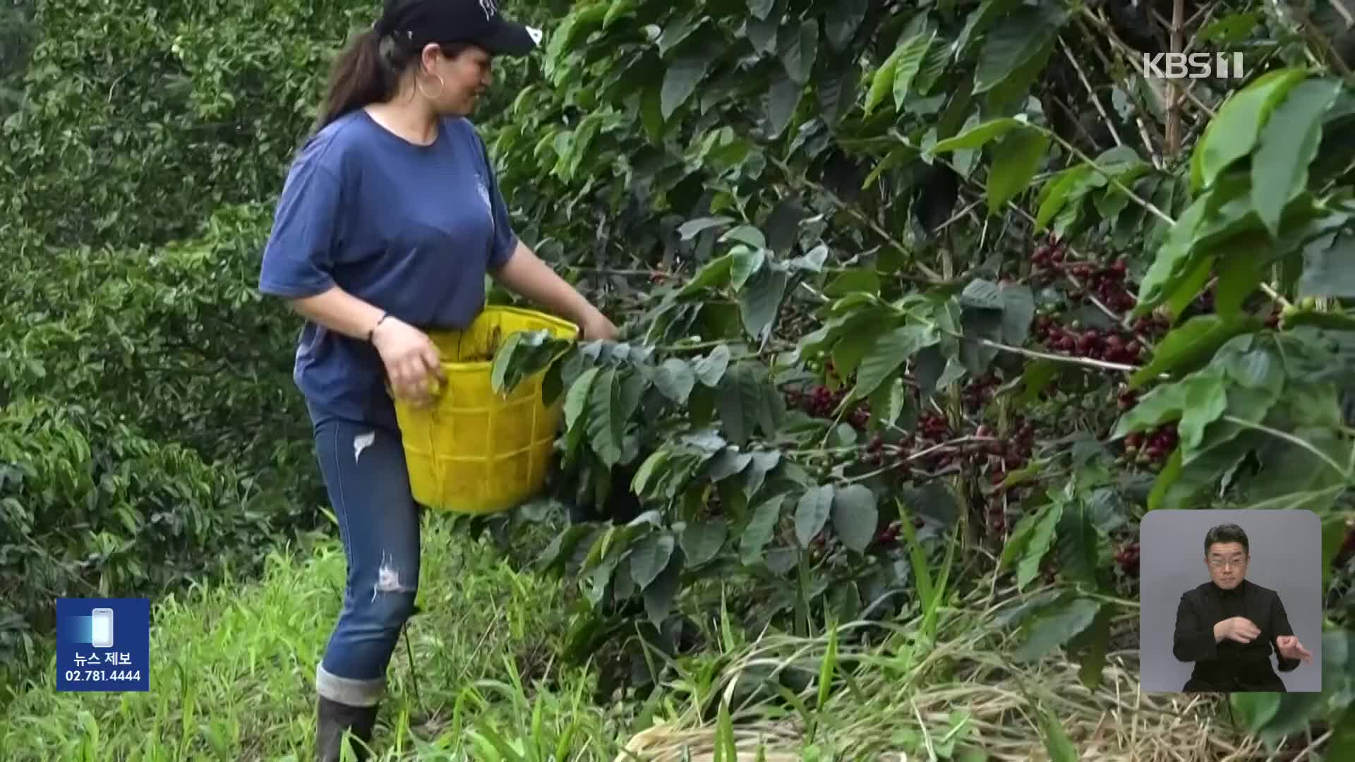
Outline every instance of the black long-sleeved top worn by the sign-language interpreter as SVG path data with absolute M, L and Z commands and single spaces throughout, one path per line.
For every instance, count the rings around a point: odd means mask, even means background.
M 1247 617 L 1262 630 L 1251 643 L 1225 637 L 1214 641 L 1214 625 L 1232 617 Z M 1294 635 L 1279 594 L 1247 579 L 1233 590 L 1213 580 L 1182 594 L 1176 606 L 1176 633 L 1172 654 L 1182 662 L 1195 662 L 1186 691 L 1283 691 L 1285 682 L 1271 668 L 1271 652 L 1282 673 L 1298 667 L 1298 659 L 1279 655 L 1275 640 Z

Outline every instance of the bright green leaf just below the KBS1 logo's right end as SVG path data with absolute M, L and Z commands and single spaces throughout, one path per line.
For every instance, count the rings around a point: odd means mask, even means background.
M 1251 153 L 1271 110 L 1302 79 L 1302 69 L 1268 72 L 1225 100 L 1195 144 L 1191 186 L 1211 187 L 1224 169 Z

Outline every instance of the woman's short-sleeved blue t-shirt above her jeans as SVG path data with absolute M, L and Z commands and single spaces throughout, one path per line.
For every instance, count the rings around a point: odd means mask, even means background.
M 337 285 L 423 329 L 465 328 L 485 273 L 508 262 L 508 222 L 480 136 L 462 118 L 412 144 L 359 108 L 320 130 L 287 172 L 259 290 L 309 297 Z M 306 321 L 293 378 L 312 419 L 394 427 L 375 347 Z

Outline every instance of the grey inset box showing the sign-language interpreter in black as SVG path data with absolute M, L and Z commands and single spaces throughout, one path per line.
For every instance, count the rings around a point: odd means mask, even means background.
M 1145 691 L 1322 689 L 1317 514 L 1149 511 L 1138 541 Z

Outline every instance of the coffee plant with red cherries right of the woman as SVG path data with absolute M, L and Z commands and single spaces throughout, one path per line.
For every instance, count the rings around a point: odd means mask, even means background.
M 541 557 L 592 606 L 580 654 L 637 620 L 671 652 L 729 590 L 755 632 L 883 618 L 959 544 L 1061 583 L 1016 656 L 1095 682 L 1156 508 L 1313 510 L 1333 583 L 1355 91 L 1305 11 L 1210 8 L 1264 62 L 1240 84 L 1149 83 L 1100 4 L 573 8 L 493 148 L 528 239 L 626 315 L 496 359 L 549 367 L 554 498 L 602 508 Z M 1291 712 L 1348 698 L 1255 729 Z

